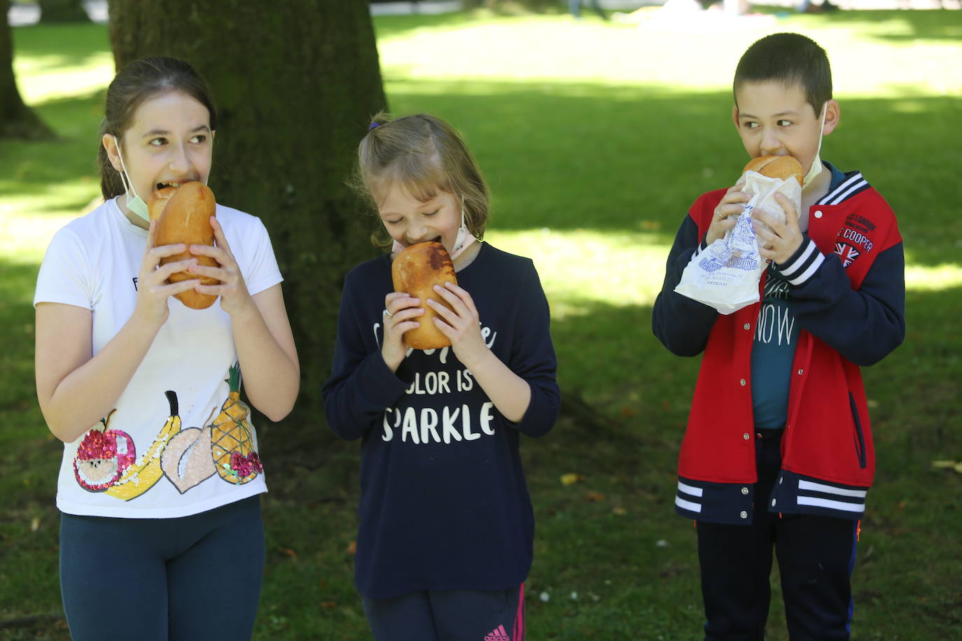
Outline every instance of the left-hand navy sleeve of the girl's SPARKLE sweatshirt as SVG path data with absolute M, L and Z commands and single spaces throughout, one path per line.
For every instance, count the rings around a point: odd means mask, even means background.
M 338 340 L 331 378 L 321 388 L 327 424 L 338 436 L 353 440 L 376 428 L 385 407 L 397 400 L 407 383 L 388 367 L 375 348 L 376 339 L 366 336 L 355 313 L 358 287 L 351 274 L 344 280 L 338 313 Z

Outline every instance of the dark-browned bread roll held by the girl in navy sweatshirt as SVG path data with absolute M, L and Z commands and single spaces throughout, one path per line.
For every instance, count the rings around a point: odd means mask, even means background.
M 424 313 L 418 316 L 420 327 L 404 333 L 404 342 L 416 350 L 436 350 L 451 344 L 450 339 L 434 324 L 437 312 L 427 305 L 427 299 L 451 308 L 434 290 L 434 285 L 458 284 L 454 263 L 440 242 L 419 242 L 394 257 L 391 267 L 394 291 L 401 291 L 420 299 Z

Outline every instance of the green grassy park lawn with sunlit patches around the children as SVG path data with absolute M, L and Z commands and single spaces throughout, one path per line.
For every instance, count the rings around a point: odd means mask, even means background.
M 494 193 L 487 239 L 535 259 L 559 379 L 582 402 L 522 444 L 538 523 L 529 639 L 700 638 L 695 532 L 671 511 L 697 360 L 658 343 L 650 308 L 687 207 L 730 185 L 747 160 L 730 79 L 747 44 L 772 31 L 827 49 L 842 124 L 823 158 L 863 171 L 905 241 L 906 341 L 864 372 L 878 471 L 852 638 L 962 639 L 962 474 L 932 465 L 962 460 L 962 12 L 771 20 L 375 21 L 392 111 L 433 111 L 468 138 Z M 114 69 L 103 25 L 13 37 L 21 93 L 60 138 L 0 146 L 0 639 L 64 639 L 61 444 L 37 407 L 31 301 L 50 235 L 99 193 L 96 130 Z M 261 429 L 271 491 L 256 638 L 364 639 L 349 553 L 358 444 L 303 428 L 310 447 L 273 460 L 270 426 Z M 579 481 L 566 485 L 565 474 Z M 772 592 L 769 637 L 787 639 L 777 573 Z

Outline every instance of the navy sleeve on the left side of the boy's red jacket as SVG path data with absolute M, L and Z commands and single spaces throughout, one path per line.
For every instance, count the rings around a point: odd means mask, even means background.
M 708 334 L 719 316 L 715 308 L 674 291 L 692 255 L 703 246 L 695 220 L 690 215 L 685 216 L 671 245 L 665 265 L 665 282 L 651 309 L 652 331 L 672 354 L 679 357 L 694 357 L 704 351 Z

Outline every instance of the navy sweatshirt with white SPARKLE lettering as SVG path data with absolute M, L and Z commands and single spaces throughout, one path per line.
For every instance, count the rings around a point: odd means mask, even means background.
M 327 421 L 362 438 L 358 590 L 384 599 L 416 590 L 517 587 L 532 559 L 534 517 L 519 432 L 541 436 L 558 416 L 548 306 L 534 264 L 485 243 L 458 272 L 494 354 L 531 387 L 508 421 L 450 348 L 412 350 L 396 374 L 381 357 L 391 258 L 344 279 Z

